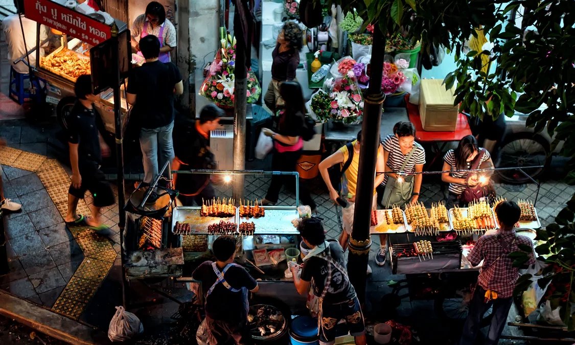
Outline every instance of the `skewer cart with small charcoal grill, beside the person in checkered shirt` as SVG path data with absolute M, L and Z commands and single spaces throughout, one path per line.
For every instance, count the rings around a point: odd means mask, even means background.
M 518 204 L 522 216 L 516 231 L 534 240 L 534 229 L 541 227 L 536 209 L 529 201 Z M 391 286 L 386 303 L 398 306 L 404 297 L 434 300 L 440 319 L 465 319 L 466 302 L 481 267 L 472 267 L 466 255 L 478 237 L 497 228 L 494 207 L 485 201 L 449 210 L 441 202 L 431 208 L 420 204 L 405 210 L 374 210 L 370 233 L 389 234 L 392 273 L 405 274 L 405 279 Z M 487 313 L 481 323 L 489 324 L 490 318 Z

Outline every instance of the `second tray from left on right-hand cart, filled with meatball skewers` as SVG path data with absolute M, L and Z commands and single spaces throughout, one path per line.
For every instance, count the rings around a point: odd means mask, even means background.
M 443 202 L 425 208 L 423 202 L 405 206 L 407 230 L 416 235 L 438 235 L 442 231 L 451 231 L 453 225 Z

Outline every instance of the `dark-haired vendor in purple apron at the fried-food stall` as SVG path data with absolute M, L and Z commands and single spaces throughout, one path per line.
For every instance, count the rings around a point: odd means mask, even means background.
M 166 9 L 159 2 L 152 1 L 146 6 L 145 13 L 136 17 L 132 25 L 132 45 L 138 55 L 143 56 L 136 38 L 143 39 L 148 34 L 157 36 L 160 40 L 160 62 L 171 62 L 170 52 L 177 45 L 174 25 L 166 19 Z

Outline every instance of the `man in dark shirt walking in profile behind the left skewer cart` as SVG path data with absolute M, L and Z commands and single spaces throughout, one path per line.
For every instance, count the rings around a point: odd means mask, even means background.
M 206 105 L 200 112 L 199 121 L 178 119 L 174 131 L 175 158 L 172 170 L 215 169 L 214 155 L 210 151 L 209 133 L 218 127 L 224 110 L 214 104 Z M 203 200 L 216 196 L 210 183 L 210 175 L 174 174 L 175 189 L 184 206 L 193 201 L 202 205 Z

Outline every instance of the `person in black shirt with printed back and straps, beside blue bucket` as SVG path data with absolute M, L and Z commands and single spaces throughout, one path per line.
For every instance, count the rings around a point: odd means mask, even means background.
M 319 333 L 321 344 L 335 342 L 335 326 L 345 320 L 356 344 L 366 344 L 365 323 L 359 300 L 347 270 L 345 256 L 338 241 L 326 241 L 319 218 L 303 218 L 298 224 L 302 240 L 311 248 L 304 258 L 304 267 L 290 264 L 297 292 L 306 294 L 309 286 L 320 298 Z

